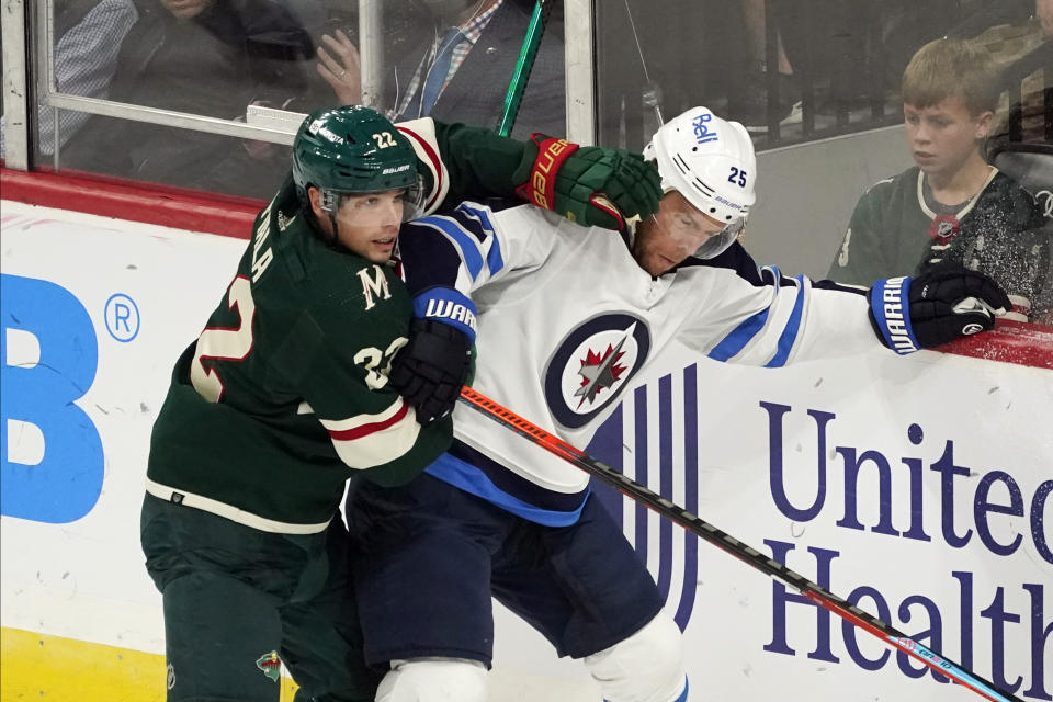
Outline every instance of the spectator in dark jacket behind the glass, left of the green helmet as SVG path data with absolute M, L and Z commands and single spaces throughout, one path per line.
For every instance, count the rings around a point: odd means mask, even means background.
M 121 47 L 112 99 L 226 120 L 302 91 L 309 36 L 275 0 L 152 0 Z M 299 59 L 297 63 L 296 59 Z M 279 105 L 280 106 L 280 105 Z M 267 196 L 284 155 L 254 161 L 230 137 L 92 120 L 67 166 L 155 183 Z

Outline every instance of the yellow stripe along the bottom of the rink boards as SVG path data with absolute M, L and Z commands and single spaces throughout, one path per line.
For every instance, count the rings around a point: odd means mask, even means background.
M 161 702 L 165 656 L 19 629 L 0 629 L 0 700 Z M 296 683 L 282 678 L 279 702 Z

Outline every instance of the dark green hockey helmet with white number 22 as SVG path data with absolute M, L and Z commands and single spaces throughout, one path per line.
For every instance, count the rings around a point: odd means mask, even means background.
M 307 115 L 293 141 L 293 182 L 321 192 L 322 210 L 337 213 L 344 195 L 406 190 L 404 219 L 420 210 L 417 155 L 409 139 L 375 110 L 347 105 Z

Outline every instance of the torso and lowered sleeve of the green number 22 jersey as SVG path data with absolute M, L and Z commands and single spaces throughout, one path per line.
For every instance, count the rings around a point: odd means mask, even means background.
M 412 305 L 395 269 L 327 245 L 286 181 L 182 354 L 147 490 L 263 531 L 321 531 L 350 469 L 404 483 L 450 444 L 387 386 Z

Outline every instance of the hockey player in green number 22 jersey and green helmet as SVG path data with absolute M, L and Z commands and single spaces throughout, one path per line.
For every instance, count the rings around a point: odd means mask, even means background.
M 642 159 L 578 151 L 554 206 L 608 226 L 619 213 L 597 192 L 626 216 L 657 208 Z M 536 152 L 430 118 L 396 128 L 365 107 L 305 120 L 291 177 L 154 427 L 141 542 L 163 596 L 168 700 L 278 700 L 280 661 L 297 700 L 373 699 L 338 506 L 349 476 L 401 484 L 445 451 L 472 346 L 418 325 L 429 361 L 411 390 L 388 383 L 412 317 L 390 264 L 399 225 L 448 195 L 513 195 Z

